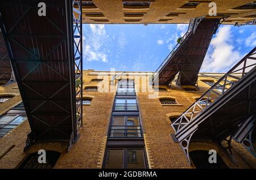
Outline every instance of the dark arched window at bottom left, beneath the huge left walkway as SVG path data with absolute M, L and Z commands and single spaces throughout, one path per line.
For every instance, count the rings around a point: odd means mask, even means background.
M 30 154 L 26 160 L 19 166 L 19 169 L 52 169 L 60 157 L 60 153 L 56 151 L 46 151 L 46 163 L 38 162 L 38 153 Z

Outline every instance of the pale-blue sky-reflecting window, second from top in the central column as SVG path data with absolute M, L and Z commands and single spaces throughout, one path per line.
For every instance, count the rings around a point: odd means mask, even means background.
M 116 98 L 114 110 L 138 110 L 136 98 Z

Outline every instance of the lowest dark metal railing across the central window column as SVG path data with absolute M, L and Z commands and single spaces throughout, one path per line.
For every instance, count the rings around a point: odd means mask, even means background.
M 109 126 L 109 138 L 143 138 L 142 126 Z

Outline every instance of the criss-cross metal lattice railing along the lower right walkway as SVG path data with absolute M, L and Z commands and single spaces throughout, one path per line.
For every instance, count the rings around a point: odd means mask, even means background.
M 202 95 L 199 100 L 192 104 L 179 118 L 172 123 L 174 131 L 179 133 L 186 125 L 196 119 L 201 113 L 207 110 L 214 101 L 220 99 L 222 96 L 236 87 L 238 82 L 241 82 L 246 75 L 249 75 L 251 71 L 255 71 L 256 68 L 256 48 L 251 50 L 240 62 L 238 62 L 231 70 L 229 70 L 217 83 L 215 83 L 207 92 Z M 235 76 L 236 72 L 241 72 L 241 76 Z M 230 84 L 228 78 L 236 79 L 236 82 Z M 220 91 L 221 90 L 221 91 Z M 211 102 L 211 103 L 207 103 Z M 204 106 L 202 104 L 205 104 Z

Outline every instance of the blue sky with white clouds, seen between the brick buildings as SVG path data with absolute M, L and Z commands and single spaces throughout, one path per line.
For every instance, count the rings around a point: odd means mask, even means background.
M 155 71 L 187 24 L 83 24 L 83 69 Z M 226 72 L 256 46 L 253 25 L 221 25 L 201 72 Z

